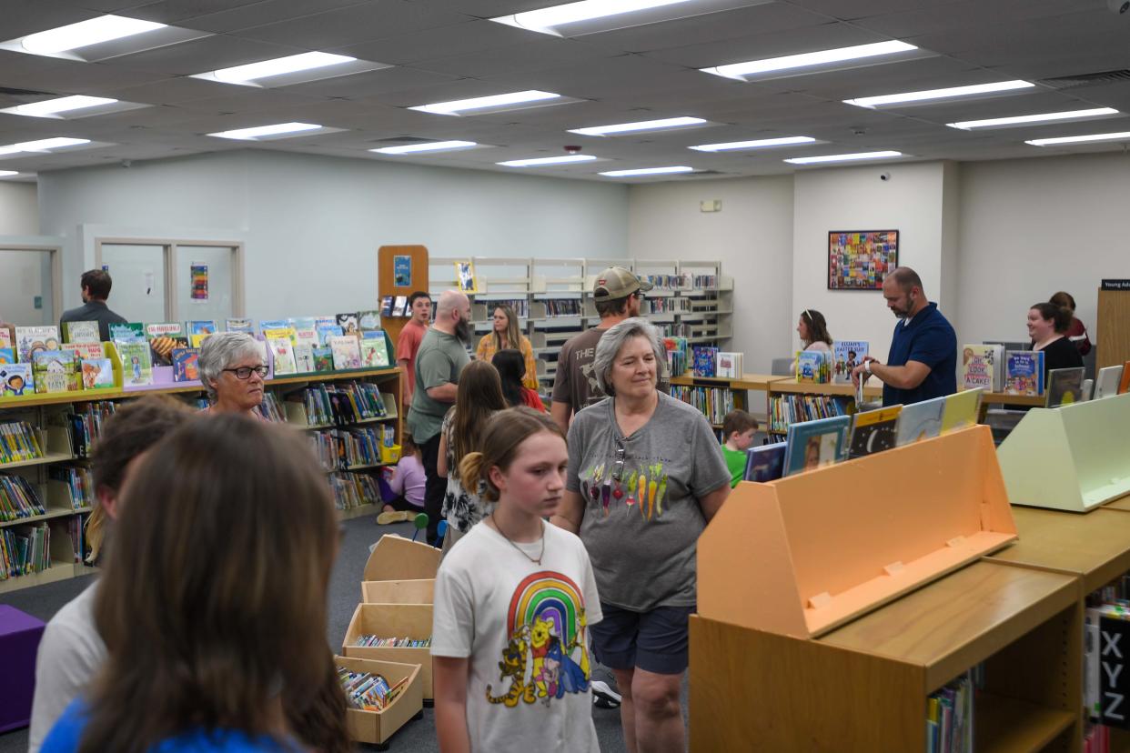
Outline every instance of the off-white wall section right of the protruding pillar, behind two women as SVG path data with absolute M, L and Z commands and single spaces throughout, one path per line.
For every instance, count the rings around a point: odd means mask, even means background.
M 959 342 L 1026 340 L 1028 307 L 1075 296 L 1096 334 L 1102 278 L 1130 278 L 1130 157 L 962 165 Z

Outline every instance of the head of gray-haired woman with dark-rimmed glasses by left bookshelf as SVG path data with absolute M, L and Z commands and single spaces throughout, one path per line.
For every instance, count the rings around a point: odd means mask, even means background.
M 267 366 L 254 338 L 243 332 L 217 332 L 200 344 L 200 382 L 208 392 L 211 413 L 247 413 L 263 418 L 263 379 Z

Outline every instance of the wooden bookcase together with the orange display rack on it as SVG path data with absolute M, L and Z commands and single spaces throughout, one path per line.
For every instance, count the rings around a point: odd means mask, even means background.
M 693 750 L 925 751 L 929 695 L 981 664 L 975 750 L 1078 750 L 1079 581 L 983 559 L 1016 539 L 988 427 L 731 497 L 698 546 Z

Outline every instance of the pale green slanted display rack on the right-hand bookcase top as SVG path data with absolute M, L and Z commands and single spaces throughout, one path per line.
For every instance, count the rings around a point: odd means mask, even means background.
M 1014 505 L 1083 513 L 1130 493 L 1130 394 L 1034 408 L 997 453 Z

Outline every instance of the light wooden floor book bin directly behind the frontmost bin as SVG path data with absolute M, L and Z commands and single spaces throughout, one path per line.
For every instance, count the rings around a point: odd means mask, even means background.
M 411 638 L 420 640 L 432 637 L 431 604 L 358 604 L 354 611 L 341 653 L 349 658 L 376 659 L 420 665 L 420 688 L 423 697 L 432 700 L 432 649 L 408 647 L 356 646 L 360 636 L 382 638 Z

